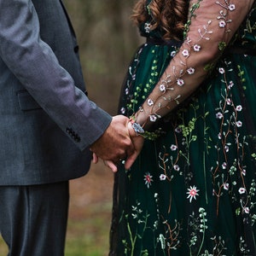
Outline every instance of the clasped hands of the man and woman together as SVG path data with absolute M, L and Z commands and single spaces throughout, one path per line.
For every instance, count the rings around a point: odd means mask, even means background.
M 130 119 L 116 115 L 108 129 L 90 146 L 93 152 L 93 163 L 99 158 L 104 160 L 113 172 L 117 172 L 120 160 L 125 160 L 125 169 L 131 168 L 143 148 L 144 138 L 134 131 Z

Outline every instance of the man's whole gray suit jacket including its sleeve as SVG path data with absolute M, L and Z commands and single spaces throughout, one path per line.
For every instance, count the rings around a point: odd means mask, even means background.
M 61 0 L 0 0 L 0 185 L 84 175 L 111 116 L 85 95 Z

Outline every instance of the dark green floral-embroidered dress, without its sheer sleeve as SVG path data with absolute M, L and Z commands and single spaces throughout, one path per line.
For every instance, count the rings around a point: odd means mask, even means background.
M 122 90 L 127 116 L 180 46 L 149 27 Z M 145 140 L 130 170 L 120 166 L 110 255 L 256 255 L 255 29 L 252 9 L 200 88 L 154 124 L 160 136 Z

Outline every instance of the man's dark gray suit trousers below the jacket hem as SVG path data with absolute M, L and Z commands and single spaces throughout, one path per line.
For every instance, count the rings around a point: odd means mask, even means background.
M 0 232 L 9 256 L 63 256 L 68 182 L 0 186 Z

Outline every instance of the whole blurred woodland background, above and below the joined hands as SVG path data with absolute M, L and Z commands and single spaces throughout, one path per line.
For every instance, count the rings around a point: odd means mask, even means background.
M 90 100 L 114 115 L 126 69 L 143 42 L 130 19 L 134 1 L 62 1 L 78 38 Z M 71 181 L 65 256 L 108 255 L 112 191 L 113 173 L 102 162 Z M 7 255 L 1 237 L 0 255 Z

